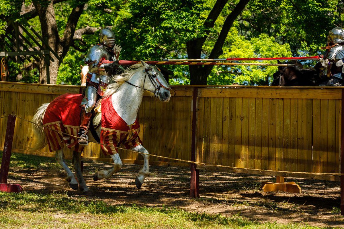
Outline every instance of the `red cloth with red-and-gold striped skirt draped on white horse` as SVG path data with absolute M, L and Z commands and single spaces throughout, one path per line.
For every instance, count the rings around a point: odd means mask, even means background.
M 63 94 L 54 99 L 47 107 L 43 118 L 44 128 L 50 152 L 62 149 L 66 144 L 71 150 L 82 152 L 83 145 L 78 144 L 77 132 L 80 126 L 81 94 Z M 131 149 L 142 144 L 138 134 L 138 119 L 128 125 L 117 114 L 111 103 L 111 96 L 101 102 L 101 149 L 105 155 L 116 154 L 115 147 Z M 72 135 L 72 136 L 69 136 Z

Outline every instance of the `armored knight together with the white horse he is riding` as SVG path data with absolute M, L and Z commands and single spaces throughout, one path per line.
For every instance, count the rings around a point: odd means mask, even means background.
M 116 61 L 118 56 L 116 56 L 116 52 L 112 54 L 108 49 L 114 47 L 114 38 L 111 32 L 111 30 L 103 29 L 100 32 L 100 41 L 103 45 L 93 46 L 86 57 L 90 70 L 87 76 L 85 97 L 80 94 L 68 93 L 60 95 L 51 103 L 41 105 L 32 118 L 32 122 L 35 123 L 33 130 L 37 142 L 31 150 L 36 151 L 49 145 L 50 151 L 55 151 L 57 162 L 67 173 L 66 180 L 69 182 L 69 186 L 74 190 L 79 188 L 85 194 L 90 190 L 80 168 L 80 156 L 84 145 L 78 142 L 75 135 L 78 133 L 80 122 L 82 122 L 81 127 L 84 127 L 85 124 L 93 125 L 93 122 L 89 124 L 91 115 L 88 113 L 92 111 L 97 98 L 103 95 L 101 125 L 94 126 L 96 136 L 103 143 L 101 149 L 104 154 L 110 155 L 114 160 L 114 167 L 98 171 L 94 174 L 93 179 L 95 181 L 108 179 L 121 169 L 122 161 L 117 153 L 117 147 L 122 147 L 144 153 L 142 155 L 143 168 L 138 172 L 135 180 L 137 188 L 140 188 L 149 173 L 149 153 L 141 145 L 142 142 L 138 136 L 140 126 L 137 113 L 142 102 L 143 92 L 148 91 L 163 102 L 168 102 L 171 97 L 171 88 L 160 69 L 143 61 L 132 65 L 120 75 L 110 77 L 108 72 L 111 72 L 112 75 L 118 69 L 118 61 Z M 97 59 L 93 59 L 94 57 Z M 114 62 L 103 64 L 101 63 L 103 60 L 113 60 Z M 83 135 L 86 136 L 86 142 L 88 139 L 95 141 L 93 135 L 87 131 L 84 131 Z M 77 180 L 64 160 L 64 144 L 73 150 L 72 162 Z

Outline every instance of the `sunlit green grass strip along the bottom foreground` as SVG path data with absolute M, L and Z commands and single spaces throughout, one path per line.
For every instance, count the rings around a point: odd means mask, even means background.
M 0 228 L 316 228 L 250 222 L 174 207 L 108 205 L 97 199 L 49 193 L 1 193 Z

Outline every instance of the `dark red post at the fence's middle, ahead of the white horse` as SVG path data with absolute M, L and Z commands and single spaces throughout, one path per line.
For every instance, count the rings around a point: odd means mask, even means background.
M 198 88 L 194 87 L 192 99 L 192 137 L 191 137 L 191 161 L 196 161 L 196 114 L 197 114 L 197 92 Z M 190 178 L 190 197 L 198 197 L 198 176 L 199 170 L 196 169 L 196 164 L 190 164 L 191 178 Z

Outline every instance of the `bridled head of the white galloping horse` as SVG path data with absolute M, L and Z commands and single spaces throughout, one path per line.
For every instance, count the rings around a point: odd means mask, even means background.
M 148 65 L 141 60 L 141 64 L 144 67 L 144 81 L 143 88 L 147 91 L 154 93 L 160 101 L 168 102 L 171 98 L 170 86 L 166 82 L 161 70 L 155 65 Z

